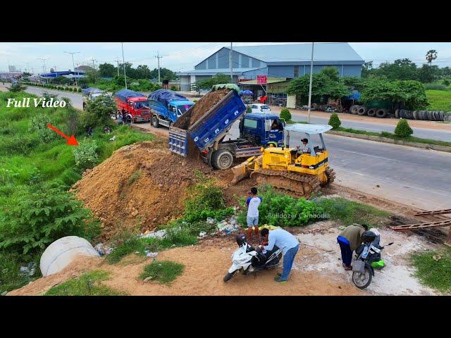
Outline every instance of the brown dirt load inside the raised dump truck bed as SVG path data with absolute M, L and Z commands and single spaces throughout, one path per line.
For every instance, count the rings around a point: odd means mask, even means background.
M 220 89 L 202 96 L 202 99 L 197 101 L 189 111 L 180 116 L 180 118 L 175 121 L 173 126 L 187 130 L 189 127 L 194 125 L 199 118 L 202 118 L 207 111 L 221 101 L 221 99 L 223 99 L 228 92 L 230 92 L 230 89 Z

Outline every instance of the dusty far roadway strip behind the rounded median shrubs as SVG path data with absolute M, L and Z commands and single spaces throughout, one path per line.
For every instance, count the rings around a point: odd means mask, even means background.
M 280 113 L 283 107 L 278 106 L 270 106 L 271 111 L 275 113 Z M 299 109 L 290 109 L 290 113 L 292 115 L 298 116 L 306 116 L 308 115 L 308 111 L 302 111 Z M 316 118 L 330 118 L 330 113 L 325 111 L 311 111 L 311 116 Z M 345 121 L 359 121 L 366 123 L 378 123 L 381 125 L 397 125 L 399 120 L 397 118 L 373 118 L 371 116 L 361 116 L 361 115 L 353 115 L 348 113 L 338 113 L 340 120 Z M 451 126 L 447 123 L 438 123 L 436 121 L 424 121 L 424 120 L 409 120 L 409 125 L 411 127 L 419 127 L 426 129 L 435 129 L 435 130 L 451 130 Z

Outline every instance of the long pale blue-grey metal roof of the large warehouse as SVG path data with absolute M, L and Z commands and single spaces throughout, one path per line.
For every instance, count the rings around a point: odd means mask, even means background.
M 311 44 L 268 44 L 263 46 L 233 47 L 238 53 L 258 58 L 266 63 L 310 61 Z M 314 61 L 361 61 L 363 59 L 346 42 L 316 43 Z

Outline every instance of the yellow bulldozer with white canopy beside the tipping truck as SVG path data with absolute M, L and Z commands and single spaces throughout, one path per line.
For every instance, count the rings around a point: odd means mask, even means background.
M 271 184 L 277 189 L 287 190 L 308 199 L 335 179 L 329 167 L 328 151 L 323 132 L 332 129 L 330 125 L 309 125 L 296 123 L 285 127 L 286 145 L 276 147 L 272 144 L 262 148 L 260 156 L 252 156 L 247 161 L 233 167 L 232 184 L 246 177 L 257 177 L 257 184 Z M 290 148 L 290 132 L 303 132 L 309 140 L 309 151 L 298 147 Z M 311 144 L 311 135 L 318 134 L 321 147 Z

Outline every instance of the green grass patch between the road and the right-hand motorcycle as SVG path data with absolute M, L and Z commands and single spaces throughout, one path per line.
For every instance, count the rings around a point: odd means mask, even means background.
M 324 212 L 329 215 L 331 220 L 339 220 L 345 226 L 358 223 L 366 224 L 369 227 L 377 227 L 383 225 L 391 215 L 387 211 L 356 201 L 350 201 L 343 197 L 320 197 L 313 200 L 324 209 Z

